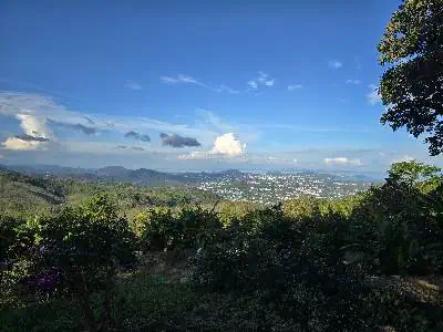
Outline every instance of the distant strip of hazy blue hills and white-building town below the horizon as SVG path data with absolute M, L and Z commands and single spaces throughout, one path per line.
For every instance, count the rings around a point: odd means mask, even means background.
M 134 185 L 151 188 L 195 188 L 226 200 L 265 205 L 293 199 L 303 195 L 318 198 L 350 197 L 379 183 L 363 175 L 313 170 L 247 173 L 237 169 L 224 172 L 164 173 L 147 168 L 126 169 L 109 166 L 82 169 L 48 166 L 10 166 L 28 175 L 54 180 L 74 180 L 85 184 Z

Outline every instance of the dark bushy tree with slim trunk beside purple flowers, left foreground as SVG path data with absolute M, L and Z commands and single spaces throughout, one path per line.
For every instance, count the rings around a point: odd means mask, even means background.
M 97 195 L 83 206 L 66 207 L 55 216 L 42 218 L 37 232 L 34 260 L 40 276 L 58 269 L 72 294 L 80 300 L 87 331 L 109 329 L 112 294 L 120 267 L 134 260 L 134 235 L 127 220 L 116 215 L 106 196 Z M 91 295 L 104 290 L 102 318 L 94 317 Z

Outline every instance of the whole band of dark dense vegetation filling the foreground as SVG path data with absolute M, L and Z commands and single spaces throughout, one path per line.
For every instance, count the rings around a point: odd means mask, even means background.
M 127 200 L 99 187 L 55 209 L 4 209 L 1 329 L 439 331 L 442 181 L 410 162 L 359 196 L 271 208 L 193 205 L 183 193 L 128 217 Z

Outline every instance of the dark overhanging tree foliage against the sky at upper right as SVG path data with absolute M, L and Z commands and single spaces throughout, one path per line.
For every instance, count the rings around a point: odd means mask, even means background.
M 431 155 L 443 152 L 443 0 L 404 0 L 378 46 L 388 65 L 381 83 L 388 106 L 381 123 L 425 135 Z

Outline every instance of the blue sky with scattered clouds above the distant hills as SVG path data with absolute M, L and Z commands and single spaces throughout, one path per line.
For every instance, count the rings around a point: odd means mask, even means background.
M 381 172 L 399 0 L 0 2 L 0 164 Z

